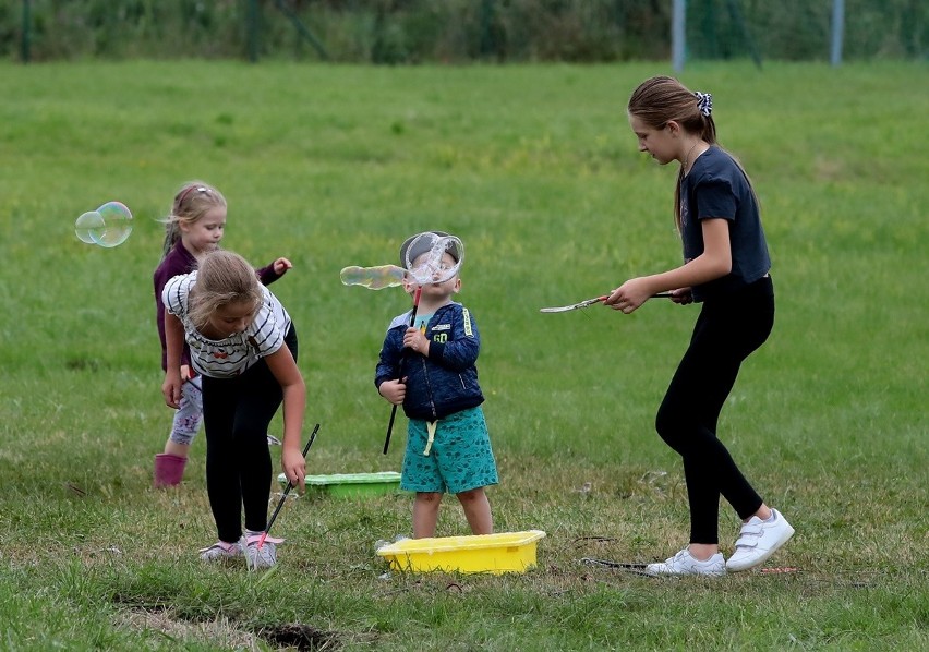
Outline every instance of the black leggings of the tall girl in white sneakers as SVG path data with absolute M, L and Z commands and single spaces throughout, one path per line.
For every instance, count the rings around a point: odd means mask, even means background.
M 707 300 L 659 408 L 655 428 L 684 459 L 690 543 L 719 543 L 720 495 L 741 519 L 761 507 L 761 497 L 716 438 L 716 422 L 743 360 L 768 339 L 773 325 L 770 277 Z

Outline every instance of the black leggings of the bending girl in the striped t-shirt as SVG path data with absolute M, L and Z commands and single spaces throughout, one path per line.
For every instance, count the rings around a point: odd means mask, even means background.
M 297 330 L 285 345 L 297 360 Z M 280 384 L 260 360 L 234 378 L 203 376 L 203 421 L 206 431 L 206 491 L 220 541 L 232 543 L 245 528 L 262 532 L 267 524 L 272 460 L 268 425 L 283 400 Z

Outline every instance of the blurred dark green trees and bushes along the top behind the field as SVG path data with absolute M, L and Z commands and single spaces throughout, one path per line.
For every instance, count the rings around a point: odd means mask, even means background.
M 688 0 L 690 59 L 828 60 L 833 0 Z M 35 61 L 272 57 L 405 64 L 666 59 L 672 0 L 4 0 Z M 927 56 L 927 0 L 846 0 L 845 59 Z

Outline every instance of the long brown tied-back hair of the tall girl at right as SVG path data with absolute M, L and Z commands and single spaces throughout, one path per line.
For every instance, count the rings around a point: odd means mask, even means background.
M 716 123 L 710 114 L 710 107 L 701 108 L 701 99 L 697 93 L 668 76 L 655 76 L 639 84 L 629 97 L 626 110 L 652 129 L 664 129 L 672 120 L 690 134 L 700 136 L 710 145 L 722 149 L 716 140 Z M 728 154 L 728 153 L 727 153 Z M 739 167 L 749 186 L 751 180 L 745 168 L 732 154 L 733 161 Z M 684 166 L 677 172 L 677 183 L 674 186 L 674 224 L 680 231 L 680 183 L 684 180 Z M 751 191 L 755 193 L 755 190 Z M 756 197 L 756 202 L 758 197 Z

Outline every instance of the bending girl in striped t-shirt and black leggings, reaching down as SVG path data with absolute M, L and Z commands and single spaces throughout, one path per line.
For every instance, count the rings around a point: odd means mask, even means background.
M 202 550 L 201 558 L 246 554 L 250 567 L 273 566 L 280 540 L 267 538 L 261 550 L 257 544 L 267 527 L 272 485 L 267 428 L 281 402 L 283 472 L 297 486 L 306 474 L 300 449 L 306 388 L 297 367 L 293 323 L 254 268 L 224 250 L 204 256 L 198 270 L 169 280 L 161 300 L 165 401 L 177 408 L 181 399 L 184 341 L 203 376 L 206 485 L 219 541 Z

